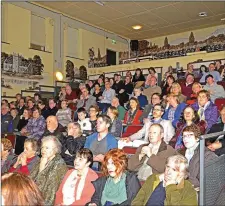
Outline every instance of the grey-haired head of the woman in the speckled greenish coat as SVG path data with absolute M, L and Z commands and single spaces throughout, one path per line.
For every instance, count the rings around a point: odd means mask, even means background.
M 46 136 L 41 140 L 41 156 L 51 160 L 61 153 L 61 143 L 56 136 Z

